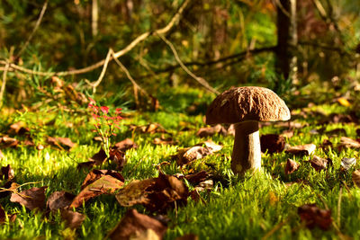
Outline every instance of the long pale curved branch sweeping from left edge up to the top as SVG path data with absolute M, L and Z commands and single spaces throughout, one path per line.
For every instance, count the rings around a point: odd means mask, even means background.
M 180 16 L 182 15 L 182 13 L 184 12 L 185 7 L 190 3 L 190 0 L 185 0 L 184 3 L 179 7 L 178 11 L 175 13 L 175 15 L 173 16 L 173 18 L 170 20 L 170 22 L 168 22 L 166 24 L 166 26 L 162 29 L 158 29 L 156 31 L 147 31 L 145 33 L 142 33 L 141 35 L 139 35 L 139 37 L 137 37 L 135 40 L 132 40 L 130 42 L 130 44 L 128 46 L 126 46 L 124 49 L 121 49 L 120 51 L 117 51 L 116 53 L 114 53 L 112 55 L 112 58 L 109 59 L 109 61 L 112 61 L 114 58 L 120 58 L 121 56 L 123 56 L 124 54 L 128 53 L 131 49 L 135 48 L 139 42 L 146 40 L 148 38 L 148 36 L 152 35 L 154 32 L 157 34 L 164 34 L 167 31 L 170 31 L 176 22 L 179 21 Z M 0 64 L 6 65 L 6 62 L 4 61 L 0 61 Z M 38 76 L 69 76 L 69 75 L 79 75 L 79 74 L 85 74 L 87 72 L 91 72 L 94 69 L 98 68 L 98 67 L 102 67 L 105 64 L 105 59 L 94 63 L 91 66 L 88 67 L 84 67 L 84 68 L 79 68 L 79 69 L 75 69 L 75 70 L 71 70 L 71 71 L 62 71 L 62 72 L 40 72 L 40 71 L 32 71 L 31 69 L 25 68 L 25 67 L 20 67 L 14 64 L 10 64 L 11 68 L 14 68 L 15 70 L 27 73 L 27 74 L 31 74 L 31 75 L 38 75 Z

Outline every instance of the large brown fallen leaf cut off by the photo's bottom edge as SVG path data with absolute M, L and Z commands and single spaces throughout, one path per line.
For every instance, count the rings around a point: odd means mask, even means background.
M 141 214 L 136 209 L 129 209 L 120 223 L 112 229 L 108 237 L 110 239 L 130 240 L 132 237 L 144 236 L 143 233 L 151 229 L 157 234 L 158 239 L 162 239 L 166 233 L 166 228 L 157 219 Z

